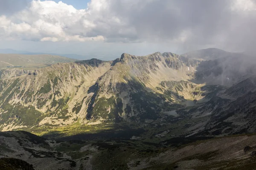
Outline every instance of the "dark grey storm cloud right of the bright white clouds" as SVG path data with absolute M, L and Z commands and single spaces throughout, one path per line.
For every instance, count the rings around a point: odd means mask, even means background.
M 137 40 L 176 42 L 184 49 L 191 50 L 202 45 L 218 45 L 226 48 L 225 41 L 236 42 L 236 26 L 243 11 L 232 11 L 233 0 L 152 0 L 140 1 L 130 6 L 115 1 L 111 11 L 128 22 L 136 30 Z M 247 16 L 243 25 L 252 22 Z M 251 32 L 251 31 L 249 31 Z M 117 36 L 115 34 L 115 36 Z M 134 37 L 134 35 L 132 35 Z M 182 39 L 183 40 L 180 40 Z M 109 37 L 110 39 L 111 37 Z M 129 37 L 129 35 L 127 36 Z M 132 40 L 132 39 L 131 39 Z

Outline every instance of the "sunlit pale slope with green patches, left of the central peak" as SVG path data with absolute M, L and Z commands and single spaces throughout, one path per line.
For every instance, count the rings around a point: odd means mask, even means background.
M 110 67 L 111 62 L 92 59 L 59 63 L 32 74 L 2 79 L 1 127 L 76 122 L 87 96 L 90 96 L 87 94 L 89 87 Z

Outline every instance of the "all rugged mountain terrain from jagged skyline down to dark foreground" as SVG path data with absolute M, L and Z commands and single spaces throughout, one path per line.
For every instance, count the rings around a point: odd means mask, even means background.
M 253 57 L 208 48 L 54 59 L 0 70 L 0 168 L 255 167 Z

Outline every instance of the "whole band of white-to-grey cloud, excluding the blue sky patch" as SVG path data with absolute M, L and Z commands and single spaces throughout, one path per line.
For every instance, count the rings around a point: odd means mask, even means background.
M 0 0 L 3 7 L 7 0 Z M 16 8 L 18 9 L 18 8 Z M 20 9 L 20 8 L 19 8 Z M 253 50 L 255 0 L 91 0 L 86 9 L 33 0 L 0 16 L 0 39 L 148 42 L 183 51 Z

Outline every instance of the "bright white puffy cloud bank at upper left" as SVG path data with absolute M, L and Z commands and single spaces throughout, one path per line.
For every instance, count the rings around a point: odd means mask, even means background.
M 22 11 L 8 17 L 0 16 L 0 28 L 4 31 L 0 34 L 1 39 L 52 42 L 104 40 L 102 35 L 87 35 L 95 24 L 86 9 L 77 10 L 61 1 L 33 0 Z

